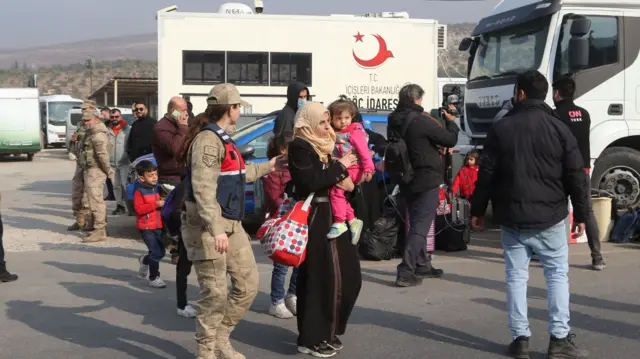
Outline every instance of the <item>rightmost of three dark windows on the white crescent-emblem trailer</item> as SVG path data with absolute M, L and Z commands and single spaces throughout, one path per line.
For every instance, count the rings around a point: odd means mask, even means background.
M 271 85 L 287 86 L 293 81 L 311 84 L 311 54 L 272 52 Z

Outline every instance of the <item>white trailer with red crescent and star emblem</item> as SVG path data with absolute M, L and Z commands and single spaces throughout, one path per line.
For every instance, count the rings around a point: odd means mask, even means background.
M 229 82 L 251 104 L 245 113 L 270 113 L 284 106 L 287 85 L 300 81 L 315 101 L 344 94 L 361 108 L 393 110 L 412 82 L 424 88 L 425 108 L 440 106 L 437 56 L 446 26 L 436 20 L 176 10 L 157 13 L 158 103 L 183 96 L 198 113 L 209 90 Z

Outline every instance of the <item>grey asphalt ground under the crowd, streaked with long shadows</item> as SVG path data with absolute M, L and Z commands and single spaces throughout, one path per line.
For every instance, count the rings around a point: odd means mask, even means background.
M 192 358 L 194 323 L 176 316 L 174 267 L 161 265 L 166 289 L 153 290 L 136 277 L 144 246 L 133 218 L 110 218 L 117 238 L 99 245 L 82 245 L 66 233 L 72 171 L 62 151 L 44 152 L 34 162 L 0 162 L 7 261 L 20 275 L 0 284 L 0 359 Z M 472 244 L 466 252 L 438 253 L 435 263 L 445 276 L 418 288 L 393 286 L 396 261 L 363 262 L 362 293 L 338 357 L 504 357 L 510 334 L 497 232 L 476 235 Z M 295 320 L 265 314 L 271 265 L 259 245 L 254 248 L 261 291 L 232 334 L 234 345 L 248 358 L 296 355 Z M 573 331 L 591 358 L 637 358 L 640 245 L 603 249 L 608 267 L 593 272 L 586 244 L 571 246 Z M 197 299 L 195 277 L 189 280 L 189 297 Z M 536 263 L 529 305 L 532 358 L 545 358 L 546 290 Z

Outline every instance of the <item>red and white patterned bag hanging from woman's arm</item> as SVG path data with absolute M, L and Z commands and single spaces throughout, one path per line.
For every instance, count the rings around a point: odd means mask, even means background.
M 306 257 L 309 240 L 309 211 L 313 193 L 305 201 L 285 195 L 278 217 L 267 219 L 256 236 L 264 251 L 275 263 L 298 267 Z

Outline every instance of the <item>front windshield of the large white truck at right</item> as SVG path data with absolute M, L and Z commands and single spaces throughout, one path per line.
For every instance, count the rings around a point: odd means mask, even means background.
M 550 16 L 482 34 L 469 81 L 537 69 L 542 61 Z

